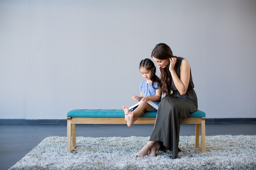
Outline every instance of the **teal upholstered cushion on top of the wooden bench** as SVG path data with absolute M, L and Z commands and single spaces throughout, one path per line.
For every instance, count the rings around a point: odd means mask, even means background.
M 145 112 L 140 117 L 156 117 L 157 112 Z M 124 117 L 123 109 L 75 109 L 67 113 L 67 117 Z M 205 113 L 197 110 L 189 117 L 205 117 Z

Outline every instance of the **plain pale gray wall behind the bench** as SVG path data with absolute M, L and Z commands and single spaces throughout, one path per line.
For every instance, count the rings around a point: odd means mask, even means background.
M 160 42 L 208 118 L 256 117 L 255 0 L 0 0 L 0 24 L 0 119 L 135 104 Z

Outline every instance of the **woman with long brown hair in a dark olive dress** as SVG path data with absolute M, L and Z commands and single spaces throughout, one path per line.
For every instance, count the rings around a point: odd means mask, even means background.
M 150 155 L 156 155 L 157 150 L 170 150 L 174 159 L 180 151 L 180 121 L 198 109 L 198 100 L 186 59 L 173 56 L 171 48 L 164 43 L 155 46 L 151 57 L 161 73 L 161 88 L 166 96 L 159 103 L 149 141 L 135 157 L 144 157 L 148 151 Z

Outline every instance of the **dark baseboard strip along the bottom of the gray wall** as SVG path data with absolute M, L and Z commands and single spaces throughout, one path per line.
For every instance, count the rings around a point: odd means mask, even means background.
M 256 123 L 256 118 L 206 118 L 205 123 Z M 0 124 L 67 124 L 67 119 L 0 119 Z

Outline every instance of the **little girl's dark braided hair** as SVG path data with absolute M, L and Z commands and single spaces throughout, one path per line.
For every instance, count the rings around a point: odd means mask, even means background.
M 159 79 L 159 77 L 157 77 L 157 75 L 155 75 L 155 71 L 156 71 L 156 68 L 155 68 L 155 64 L 153 63 L 152 60 L 146 58 L 144 60 L 141 60 L 141 62 L 139 63 L 139 68 L 141 67 L 144 67 L 146 68 L 147 70 L 151 71 L 152 72 L 152 75 L 150 77 L 150 79 L 152 80 L 152 87 L 154 87 L 154 83 L 156 82 L 158 86 L 161 86 L 161 80 Z M 155 88 L 157 89 L 157 88 Z

